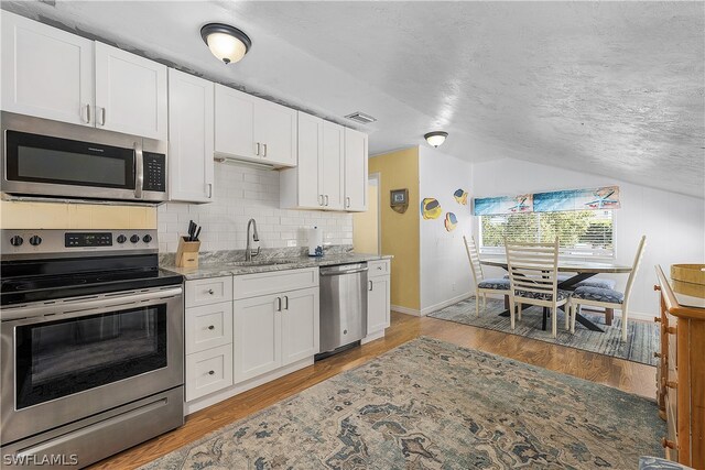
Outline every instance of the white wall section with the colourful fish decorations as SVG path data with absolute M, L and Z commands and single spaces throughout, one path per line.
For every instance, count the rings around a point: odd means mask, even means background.
M 419 198 L 438 200 L 443 214 L 437 219 L 420 221 L 421 250 L 421 314 L 426 315 L 471 292 L 471 276 L 463 236 L 471 231 L 470 196 L 466 206 L 458 204 L 453 193 L 471 187 L 471 164 L 445 155 L 429 146 L 419 147 Z M 419 207 L 409 210 L 420 210 Z M 448 232 L 446 212 L 458 219 L 455 230 Z

